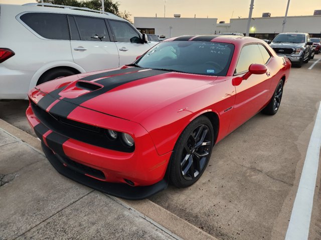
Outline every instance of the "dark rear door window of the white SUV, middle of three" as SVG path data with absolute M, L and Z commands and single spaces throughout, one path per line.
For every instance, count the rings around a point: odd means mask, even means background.
M 74 16 L 80 39 L 84 41 L 110 41 L 105 20 L 102 18 Z M 69 18 L 71 19 L 71 17 Z M 70 22 L 71 31 L 72 21 Z M 74 35 L 72 35 L 74 37 Z M 77 35 L 76 35 L 77 38 Z

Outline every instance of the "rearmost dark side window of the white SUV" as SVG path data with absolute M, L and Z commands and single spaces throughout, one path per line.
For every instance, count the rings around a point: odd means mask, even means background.
M 20 16 L 20 19 L 42 37 L 69 40 L 67 16 L 65 14 L 29 12 Z

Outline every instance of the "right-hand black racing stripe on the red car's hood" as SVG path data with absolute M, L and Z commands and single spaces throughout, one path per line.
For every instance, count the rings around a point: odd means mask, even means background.
M 76 98 L 64 98 L 59 102 L 57 102 L 50 109 L 49 112 L 62 117 L 67 117 L 70 114 L 70 112 L 72 112 L 81 103 L 89 99 L 92 99 L 98 95 L 101 95 L 107 91 L 110 91 L 115 87 L 118 87 L 122 84 L 131 82 L 131 81 L 139 80 L 142 78 L 164 74 L 166 72 L 168 71 L 151 69 L 151 70 L 137 71 L 137 72 L 132 72 L 130 74 L 128 73 L 128 74 L 116 75 L 116 76 L 100 79 L 96 82 L 102 84 L 104 87 L 95 91 L 88 92 Z

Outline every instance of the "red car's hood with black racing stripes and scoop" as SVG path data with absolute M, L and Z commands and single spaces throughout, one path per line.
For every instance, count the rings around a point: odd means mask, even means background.
M 80 105 L 139 121 L 172 102 L 211 86 L 209 83 L 218 77 L 130 67 L 93 72 L 90 75 L 87 73 L 87 76 L 80 74 L 78 78 L 80 79 L 70 82 L 66 77 L 67 85 L 62 84 L 63 79 L 57 79 L 37 88 L 56 99 L 60 98 L 61 102 L 56 104 L 61 106 L 56 108 L 64 112 L 66 117 Z M 49 84 L 51 87 L 48 87 Z M 57 109 L 55 112 L 59 113 Z M 137 115 L 139 119 L 136 118 Z

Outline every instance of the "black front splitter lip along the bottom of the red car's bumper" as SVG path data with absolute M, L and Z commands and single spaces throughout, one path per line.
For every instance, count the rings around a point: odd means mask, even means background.
M 127 200 L 141 200 L 164 190 L 168 186 L 168 181 L 165 179 L 166 177 L 149 186 L 130 186 L 125 183 L 113 183 L 97 180 L 64 166 L 55 153 L 46 146 L 43 141 L 41 142 L 41 146 L 50 163 L 60 174 L 112 196 L 117 196 Z

